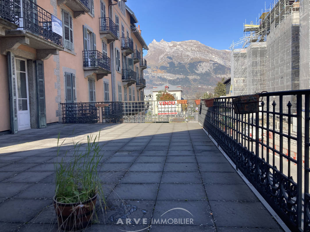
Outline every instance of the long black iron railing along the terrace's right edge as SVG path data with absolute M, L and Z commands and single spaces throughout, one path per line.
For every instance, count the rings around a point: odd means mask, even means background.
M 234 97 L 199 109 L 201 125 L 292 231 L 302 230 L 302 218 L 310 230 L 309 96 L 310 90 L 262 93 L 257 113 L 235 114 Z

